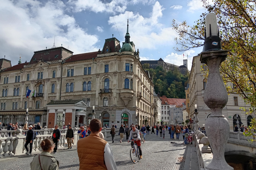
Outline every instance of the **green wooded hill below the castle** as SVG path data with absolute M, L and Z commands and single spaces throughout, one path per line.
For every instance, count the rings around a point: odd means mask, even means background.
M 167 98 L 186 98 L 185 87 L 188 83 L 189 71 L 183 75 L 177 67 L 167 71 L 162 66 L 157 66 L 155 69 L 149 68 L 148 63 L 143 64 L 143 68 L 149 70 L 156 94 L 159 92 L 160 96 L 166 96 Z

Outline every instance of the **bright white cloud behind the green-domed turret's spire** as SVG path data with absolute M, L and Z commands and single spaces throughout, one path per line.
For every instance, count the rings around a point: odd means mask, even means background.
M 158 17 L 162 16 L 162 6 L 157 1 L 153 5 L 152 13 L 149 18 L 144 18 L 139 13 L 129 12 L 129 33 L 130 41 L 133 41 L 138 48 L 156 49 L 161 44 L 174 44 L 174 38 L 178 37 L 172 27 L 166 27 L 158 22 Z M 126 33 L 127 12 L 114 16 L 115 23 L 124 40 Z M 153 21 L 154 20 L 154 21 Z M 112 25 L 112 29 L 116 30 L 112 17 L 109 17 L 108 23 Z M 122 36 L 123 35 L 123 36 Z

